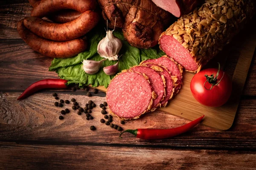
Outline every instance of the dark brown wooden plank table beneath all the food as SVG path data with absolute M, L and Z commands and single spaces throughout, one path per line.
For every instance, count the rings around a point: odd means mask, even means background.
M 63 108 L 53 105 L 52 92 L 41 91 L 27 99 L 17 96 L 30 84 L 57 78 L 49 72 L 50 58 L 34 52 L 16 31 L 19 20 L 29 16 L 26 0 L 1 1 L 0 6 L 0 169 L 255 169 L 256 168 L 256 59 L 254 57 L 233 126 L 227 131 L 198 125 L 189 133 L 146 141 L 99 122 L 99 104 L 105 93 L 87 97 L 83 90 L 58 91 L 60 99 L 76 98 L 79 105 L 93 100 L 93 120 L 70 113 L 59 120 Z M 241 36 L 241 34 L 240 34 Z M 239 35 L 238 35 L 239 40 Z M 225 70 L 236 66 L 236 51 Z M 254 54 L 255 55 L 255 54 Z M 92 89 L 90 89 L 92 91 Z M 117 118 L 114 122 L 119 124 Z M 188 123 L 155 111 L 122 125 L 169 128 Z M 91 131 L 90 125 L 97 130 Z

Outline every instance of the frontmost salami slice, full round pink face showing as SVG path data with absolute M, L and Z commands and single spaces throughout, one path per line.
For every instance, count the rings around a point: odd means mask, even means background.
M 107 89 L 108 107 L 122 119 L 137 119 L 151 110 L 155 98 L 150 82 L 137 72 L 123 72 L 111 80 Z

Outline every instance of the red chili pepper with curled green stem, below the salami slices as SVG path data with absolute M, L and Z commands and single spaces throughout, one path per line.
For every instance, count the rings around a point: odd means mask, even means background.
M 176 127 L 173 129 L 128 129 L 122 132 L 120 136 L 125 132 L 129 132 L 140 139 L 166 139 L 187 132 L 188 130 L 192 129 L 195 125 L 198 125 L 198 123 L 200 123 L 203 118 L 204 115 L 198 119 L 195 119 L 192 122 L 189 122 L 186 125 Z

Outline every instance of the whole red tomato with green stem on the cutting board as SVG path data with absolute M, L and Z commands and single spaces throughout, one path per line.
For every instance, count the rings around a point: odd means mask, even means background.
M 191 80 L 190 90 L 194 98 L 202 105 L 219 107 L 224 105 L 231 95 L 232 81 L 230 77 L 224 74 L 222 70 L 219 71 L 218 77 L 216 77 L 217 72 L 217 68 L 208 68 L 195 74 Z M 209 81 L 207 81 L 205 75 L 208 75 Z M 221 79 L 222 76 L 223 78 Z M 210 89 L 211 87 L 212 89 Z

